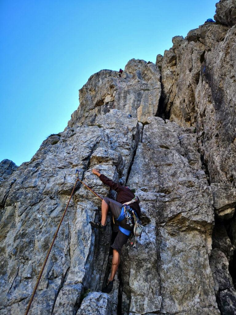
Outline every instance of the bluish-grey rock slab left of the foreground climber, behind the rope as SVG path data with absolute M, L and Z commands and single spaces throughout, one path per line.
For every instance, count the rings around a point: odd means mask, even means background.
M 93 167 L 114 180 L 127 176 L 142 124 L 116 109 L 100 115 L 99 121 L 103 127 L 96 122 L 76 130 L 67 127 L 49 137 L 31 161 L 14 172 L 14 179 L 8 176 L 0 188 L 3 314 L 10 309 L 12 314 L 25 309 L 74 185 L 75 168 L 101 196 L 109 191 L 91 173 Z M 92 274 L 101 289 L 111 230 L 105 239 L 98 239 L 98 234 L 92 232 L 88 222 L 95 218 L 98 206 L 99 199 L 78 186 L 49 257 L 32 314 L 75 313 L 82 291 L 94 286 L 90 285 Z M 101 259 L 98 264 L 95 254 Z

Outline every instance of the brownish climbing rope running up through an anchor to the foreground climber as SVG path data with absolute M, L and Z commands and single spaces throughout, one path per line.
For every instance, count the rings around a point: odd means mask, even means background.
M 58 227 L 57 227 L 56 233 L 55 233 L 55 235 L 54 235 L 54 237 L 53 237 L 53 241 L 52 241 L 52 243 L 51 243 L 51 245 L 50 245 L 50 247 L 49 247 L 49 249 L 48 249 L 48 253 L 47 253 L 47 255 L 46 255 L 45 261 L 44 261 L 44 263 L 43 263 L 43 265 L 42 265 L 42 268 L 41 268 L 41 271 L 40 271 L 40 273 L 39 273 L 39 276 L 38 276 L 38 279 L 37 279 L 37 283 L 36 283 L 36 285 L 35 285 L 35 288 L 34 288 L 34 291 L 33 291 L 32 295 L 31 295 L 31 299 L 30 299 L 30 301 L 29 301 L 29 304 L 28 304 L 28 307 L 27 307 L 27 309 L 26 309 L 25 315 L 27 315 L 28 312 L 29 312 L 29 310 L 30 310 L 31 304 L 32 304 L 32 302 L 33 302 L 33 299 L 34 299 L 34 296 L 35 296 L 35 293 L 36 293 L 36 290 L 37 290 L 37 287 L 38 287 L 38 285 L 39 285 L 39 281 L 40 281 L 40 279 L 41 279 L 41 277 L 42 277 L 43 270 L 44 270 L 45 265 L 46 265 L 46 263 L 47 263 L 47 261 L 48 261 L 48 257 L 49 257 L 49 255 L 50 255 L 50 253 L 51 253 L 51 250 L 52 250 L 53 244 L 54 244 L 54 242 L 55 242 L 55 239 L 56 239 L 56 237 L 57 237 L 59 228 L 60 228 L 60 226 L 61 226 L 61 224 L 62 224 L 62 221 L 63 221 L 63 219 L 64 219 L 64 217 L 65 217 L 66 210 L 67 210 L 67 208 L 68 208 L 68 206 L 69 206 L 70 199 L 71 199 L 71 197 L 72 197 L 72 195 L 73 195 L 73 193 L 74 193 L 74 191 L 75 191 L 77 182 L 80 181 L 80 182 L 81 182 L 84 186 L 86 186 L 91 192 L 93 192 L 94 195 L 96 195 L 99 199 L 102 200 L 102 198 L 101 198 L 96 192 L 94 192 L 93 189 L 91 189 L 91 188 L 90 188 L 89 186 L 87 186 L 84 182 L 82 182 L 82 180 L 79 179 L 79 177 L 78 177 L 78 172 L 79 172 L 79 171 L 76 169 L 76 177 L 77 177 L 77 178 L 76 178 L 75 185 L 74 185 L 74 187 L 73 187 L 73 189 L 72 189 L 72 192 L 71 192 L 71 194 L 70 194 L 70 198 L 69 198 L 69 200 L 68 200 L 68 202 L 67 202 L 67 205 L 66 205 L 66 207 L 65 207 L 65 211 L 64 211 L 64 213 L 63 213 L 63 215 L 62 215 L 62 217 L 61 217 L 61 221 L 60 221 L 60 223 L 59 223 L 59 225 L 58 225 Z

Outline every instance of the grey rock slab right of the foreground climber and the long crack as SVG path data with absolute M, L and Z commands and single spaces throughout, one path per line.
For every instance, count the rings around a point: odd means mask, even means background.
M 124 253 L 123 292 L 131 300 L 127 313 L 218 314 L 208 261 L 212 195 L 199 170 L 192 132 L 160 117 L 149 117 L 144 126 L 128 185 L 140 187 L 137 194 L 150 222 L 139 259 L 135 250 Z

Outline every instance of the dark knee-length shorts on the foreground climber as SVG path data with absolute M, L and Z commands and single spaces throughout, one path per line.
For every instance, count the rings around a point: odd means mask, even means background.
M 103 200 L 105 201 L 105 203 L 107 203 L 109 205 L 109 210 L 112 213 L 112 215 L 114 216 L 114 219 L 116 220 L 117 218 L 119 218 L 123 204 L 119 203 L 119 202 L 117 202 L 111 198 L 108 198 L 108 197 L 103 198 Z M 127 225 L 126 219 L 124 219 L 123 221 L 118 222 L 118 223 L 119 223 L 119 226 L 125 228 L 126 230 L 133 231 L 133 225 L 132 226 Z M 123 245 L 127 242 L 128 238 L 129 238 L 129 236 L 127 236 L 126 234 L 122 233 L 119 230 L 119 232 L 115 238 L 115 241 L 111 245 L 111 247 L 113 249 L 116 249 L 118 251 L 118 253 L 121 254 L 121 249 L 122 249 Z

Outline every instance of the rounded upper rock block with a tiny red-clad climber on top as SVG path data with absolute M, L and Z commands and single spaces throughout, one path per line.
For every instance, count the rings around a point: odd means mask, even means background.
M 79 93 L 80 106 L 69 126 L 93 123 L 98 114 L 120 109 L 142 123 L 154 116 L 161 95 L 160 70 L 152 62 L 131 59 L 119 72 L 101 70 L 93 74 Z

